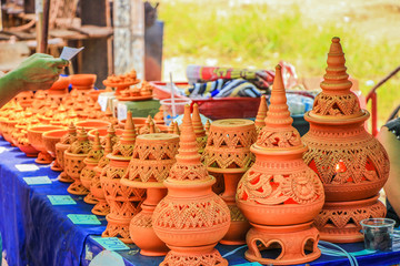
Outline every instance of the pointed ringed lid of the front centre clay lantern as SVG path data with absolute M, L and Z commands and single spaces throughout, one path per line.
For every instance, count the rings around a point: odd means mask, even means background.
M 188 104 L 184 106 L 179 150 L 176 158 L 177 163 L 170 172 L 171 180 L 210 178 L 206 166 L 200 162 L 199 149 L 190 117 L 190 106 Z

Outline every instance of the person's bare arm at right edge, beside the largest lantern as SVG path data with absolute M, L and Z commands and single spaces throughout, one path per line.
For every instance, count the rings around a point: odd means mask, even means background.
M 381 129 L 378 140 L 384 146 L 390 160 L 389 178 L 383 188 L 390 205 L 400 217 L 400 141 L 386 126 Z

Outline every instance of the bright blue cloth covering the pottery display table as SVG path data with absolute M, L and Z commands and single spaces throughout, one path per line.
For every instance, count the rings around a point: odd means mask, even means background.
M 38 166 L 20 172 L 16 165 Z M 28 171 L 27 171 L 28 170 Z M 10 266 L 51 266 L 89 265 L 104 248 L 93 236 L 99 236 L 106 228 L 106 218 L 98 216 L 100 225 L 76 225 L 68 214 L 91 214 L 92 205 L 86 204 L 82 196 L 71 197 L 74 205 L 52 205 L 48 195 L 69 195 L 69 184 L 57 181 L 59 173 L 49 165 L 34 164 L 34 158 L 27 157 L 17 147 L 0 139 L 0 232 L 2 246 Z M 51 184 L 28 185 L 23 177 L 49 176 Z M 139 254 L 134 245 L 130 250 L 118 252 L 128 265 L 159 265 L 163 257 L 146 257 Z M 230 265 L 244 264 L 244 250 L 239 246 L 218 245 L 222 256 Z M 341 245 L 348 252 L 363 249 L 363 243 Z M 374 253 L 358 256 L 359 265 L 393 265 L 400 263 L 400 243 L 393 245 L 393 252 Z M 349 265 L 346 257 L 322 255 L 310 265 Z

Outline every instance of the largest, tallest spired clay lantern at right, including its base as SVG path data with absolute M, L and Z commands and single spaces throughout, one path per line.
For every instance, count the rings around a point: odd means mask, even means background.
M 316 218 L 321 239 L 362 241 L 361 219 L 384 217 L 378 193 L 389 177 L 383 146 L 366 131 L 369 113 L 360 108 L 347 74 L 340 39 L 333 38 L 327 73 L 312 111 L 304 114 L 310 131 L 302 137 L 304 162 L 319 175 L 326 205 Z

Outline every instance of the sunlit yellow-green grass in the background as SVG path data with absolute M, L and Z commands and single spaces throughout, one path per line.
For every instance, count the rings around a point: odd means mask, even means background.
M 340 37 L 348 73 L 367 95 L 368 80 L 376 83 L 399 61 L 400 44 L 368 41 L 351 23 L 316 24 L 302 18 L 297 6 L 273 13 L 266 4 L 229 7 L 223 1 L 163 1 L 164 58 L 217 59 L 219 65 L 272 69 L 280 60 L 292 63 L 300 76 L 322 76 L 332 37 Z M 400 76 L 400 75 L 399 75 Z M 400 79 L 378 92 L 382 124 L 400 103 Z

